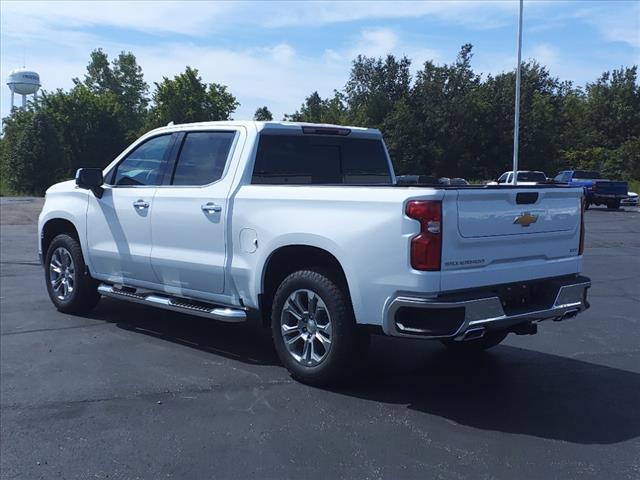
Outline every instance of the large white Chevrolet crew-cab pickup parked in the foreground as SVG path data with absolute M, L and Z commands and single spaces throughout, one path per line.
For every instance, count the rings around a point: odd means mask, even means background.
M 481 350 L 588 308 L 582 188 L 396 185 L 378 130 L 207 122 L 49 188 L 51 300 L 101 296 L 272 329 L 292 375 L 352 372 L 370 333 Z

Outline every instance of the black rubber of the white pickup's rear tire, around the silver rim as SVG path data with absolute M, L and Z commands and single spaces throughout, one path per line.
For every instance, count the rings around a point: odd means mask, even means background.
M 330 346 L 328 349 L 318 349 L 320 353 L 323 353 L 324 357 L 315 365 L 311 365 L 311 358 L 309 358 L 309 365 L 307 365 L 307 355 L 304 354 L 304 349 L 307 348 L 306 344 L 309 342 L 311 345 L 315 344 L 316 348 L 318 348 L 320 345 L 324 347 L 325 342 L 317 343 L 313 338 L 310 341 L 308 340 L 309 332 L 311 332 L 309 323 L 306 324 L 307 328 L 309 328 L 306 331 L 307 337 L 306 339 L 303 337 L 305 327 L 300 325 L 305 320 L 299 320 L 297 316 L 293 316 L 290 302 L 291 296 L 295 297 L 300 292 L 312 292 L 319 297 L 324 305 L 324 307 L 315 309 L 318 326 L 314 327 L 313 332 L 317 332 L 317 335 L 324 335 L 319 331 L 323 315 L 326 323 L 322 327 L 326 328 L 326 325 L 329 324 L 331 329 Z M 314 310 L 310 306 L 312 301 L 313 297 L 308 294 L 307 311 L 304 312 L 308 315 L 306 322 L 313 321 L 313 315 L 316 314 L 310 313 Z M 303 301 L 299 303 L 303 303 Z M 316 305 L 319 303 L 316 300 Z M 346 379 L 356 371 L 360 361 L 366 355 L 369 337 L 358 330 L 347 295 L 339 287 L 339 284 L 331 278 L 329 273 L 314 270 L 299 270 L 292 273 L 278 287 L 272 305 L 271 333 L 273 343 L 280 360 L 296 380 L 316 386 L 328 386 Z M 326 309 L 325 313 L 323 313 L 323 309 Z M 305 309 L 303 308 L 302 310 Z M 298 330 L 283 333 L 283 321 L 285 323 L 297 323 L 298 326 L 293 328 Z M 291 343 L 291 346 L 285 345 L 285 337 L 288 340 L 292 340 L 296 336 L 301 338 Z M 296 359 L 289 349 L 293 349 L 294 346 L 297 348 L 300 346 L 300 342 L 302 342 L 302 352 L 299 354 L 301 358 Z M 313 355 L 313 349 L 310 349 L 310 351 Z

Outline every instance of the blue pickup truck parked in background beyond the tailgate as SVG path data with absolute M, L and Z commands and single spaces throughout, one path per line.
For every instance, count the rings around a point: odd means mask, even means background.
M 559 172 L 554 180 L 583 187 L 586 208 L 590 205 L 620 208 L 620 202 L 627 198 L 627 182 L 602 179 L 600 172 L 593 170 L 564 170 Z

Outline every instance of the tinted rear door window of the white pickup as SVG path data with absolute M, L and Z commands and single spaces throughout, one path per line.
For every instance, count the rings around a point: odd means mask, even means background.
M 173 185 L 208 185 L 220 180 L 235 132 L 187 133 L 173 173 Z

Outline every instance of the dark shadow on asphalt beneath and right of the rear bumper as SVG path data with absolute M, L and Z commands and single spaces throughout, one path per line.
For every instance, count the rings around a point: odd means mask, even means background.
M 388 345 L 374 347 L 365 374 L 340 393 L 482 430 L 572 443 L 640 436 L 640 374 L 510 346 L 461 356 L 434 344 L 394 361 L 398 340 L 377 340 Z

